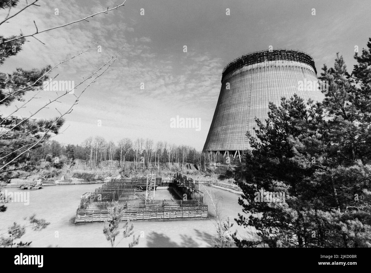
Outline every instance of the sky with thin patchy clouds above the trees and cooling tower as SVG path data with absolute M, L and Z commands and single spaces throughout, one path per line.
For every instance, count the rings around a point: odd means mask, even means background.
M 40 0 L 39 7 L 22 11 L 1 25 L 0 31 L 4 36 L 19 34 L 21 30 L 32 34 L 33 20 L 39 30 L 48 29 L 122 1 Z M 25 5 L 20 2 L 10 14 Z M 144 15 L 140 14 L 141 9 Z M 114 142 L 122 138 L 150 138 L 201 150 L 219 96 L 221 72 L 227 63 L 273 46 L 309 53 L 318 73 L 324 63 L 333 66 L 339 52 L 350 71 L 355 64 L 355 46 L 361 50 L 371 36 L 370 10 L 370 0 L 127 0 L 125 6 L 98 14 L 89 22 L 37 34 L 35 37 L 45 45 L 28 37 L 22 51 L 7 59 L 0 71 L 54 66 L 98 42 L 50 74 L 58 75 L 55 80 L 70 80 L 77 85 L 126 43 L 109 70 L 86 89 L 73 111 L 65 116 L 62 134 L 54 139 L 64 144 L 81 144 L 90 136 Z M 0 18 L 6 14 L 2 10 Z M 78 87 L 75 94 L 82 89 Z M 41 91 L 17 114 L 29 115 L 55 96 L 53 91 Z M 69 109 L 74 99 L 68 94 L 34 117 L 58 116 L 58 111 Z M 16 102 L 1 107 L 0 112 L 7 114 L 19 105 Z M 199 119 L 200 128 L 171 128 L 171 119 L 177 116 Z

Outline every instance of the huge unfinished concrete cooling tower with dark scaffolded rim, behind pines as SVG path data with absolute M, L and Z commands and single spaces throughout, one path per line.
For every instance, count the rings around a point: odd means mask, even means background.
M 255 136 L 255 117 L 265 121 L 268 103 L 279 105 L 281 97 L 295 93 L 304 101 L 322 101 L 318 87 L 305 88 L 316 82 L 313 58 L 298 50 L 278 49 L 243 55 L 230 62 L 221 77 L 221 90 L 213 121 L 203 151 L 240 155 L 250 149 L 245 136 Z M 304 88 L 298 88 L 302 81 Z

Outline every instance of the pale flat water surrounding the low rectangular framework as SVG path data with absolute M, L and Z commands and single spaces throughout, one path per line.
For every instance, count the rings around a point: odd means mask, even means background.
M 102 232 L 103 223 L 73 223 L 81 195 L 92 192 L 101 185 L 56 185 L 30 191 L 7 188 L 8 192 L 29 192 L 30 202 L 29 205 L 7 203 L 7 211 L 0 213 L 0 234 L 6 232 L 13 222 L 25 223 L 24 218 L 35 213 L 37 218 L 45 218 L 50 225 L 41 231 L 27 229 L 21 240 L 32 241 L 32 247 L 110 247 Z M 239 195 L 207 186 L 206 189 L 214 200 L 220 200 L 221 216 L 229 216 L 234 223 L 233 219 L 242 211 L 237 203 Z M 209 205 L 210 218 L 132 221 L 134 234 L 142 235 L 138 247 L 211 247 L 210 238 L 216 235 L 214 213 L 210 197 L 201 185 L 200 190 L 205 193 L 204 201 Z M 156 199 L 170 196 L 168 190 L 156 191 Z M 244 234 L 243 228 L 235 223 L 232 230 L 236 229 Z M 119 234 L 116 242 L 121 239 Z M 131 238 L 122 240 L 118 247 L 127 247 L 129 241 Z

